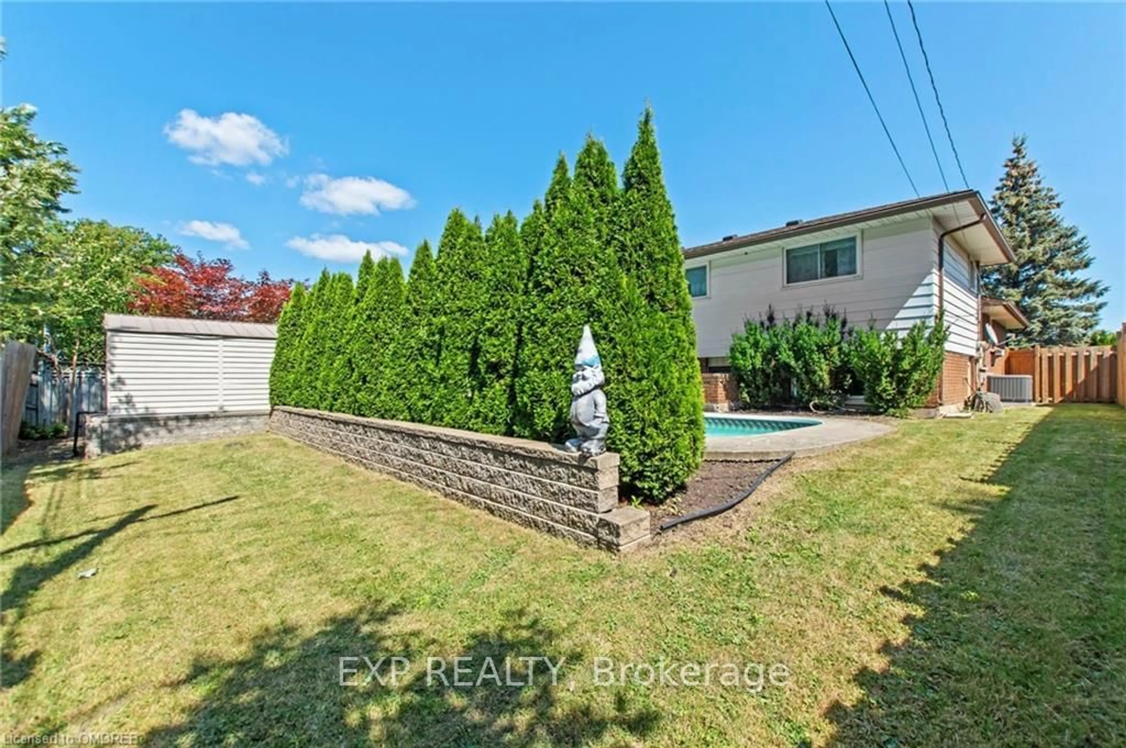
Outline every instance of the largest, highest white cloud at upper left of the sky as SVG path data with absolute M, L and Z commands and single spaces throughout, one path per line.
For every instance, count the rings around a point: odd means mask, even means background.
M 207 166 L 267 165 L 289 152 L 289 144 L 260 119 L 233 111 L 203 117 L 181 109 L 175 123 L 164 125 L 164 135 L 172 145 L 191 152 L 189 161 Z

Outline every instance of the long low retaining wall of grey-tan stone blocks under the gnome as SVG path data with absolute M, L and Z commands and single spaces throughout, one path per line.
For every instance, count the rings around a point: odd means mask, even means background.
M 618 456 L 401 421 L 276 407 L 270 431 L 497 516 L 614 551 L 650 540 L 645 510 L 618 507 Z

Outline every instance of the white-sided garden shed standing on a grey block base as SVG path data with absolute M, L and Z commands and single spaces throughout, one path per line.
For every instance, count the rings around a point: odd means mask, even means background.
M 262 431 L 275 325 L 107 314 L 106 413 L 87 454 Z

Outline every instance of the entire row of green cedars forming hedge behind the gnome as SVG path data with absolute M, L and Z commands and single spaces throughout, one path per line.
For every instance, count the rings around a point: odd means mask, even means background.
M 278 323 L 270 402 L 557 442 L 571 435 L 582 326 L 606 370 L 609 448 L 629 498 L 663 501 L 703 458 L 691 299 L 646 108 L 623 180 L 588 136 L 518 222 L 454 209 L 437 258 L 328 271 Z

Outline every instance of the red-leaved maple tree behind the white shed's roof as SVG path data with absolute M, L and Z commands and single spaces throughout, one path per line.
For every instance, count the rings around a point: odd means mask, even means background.
M 230 260 L 195 260 L 177 252 L 170 265 L 153 268 L 137 280 L 129 310 L 160 317 L 229 322 L 277 322 L 289 300 L 292 279 L 275 280 L 262 270 L 257 280 L 232 274 Z

